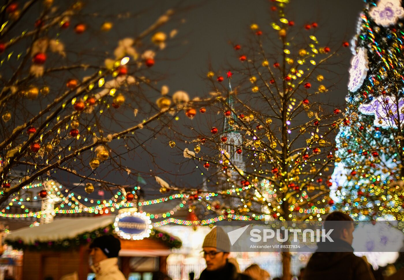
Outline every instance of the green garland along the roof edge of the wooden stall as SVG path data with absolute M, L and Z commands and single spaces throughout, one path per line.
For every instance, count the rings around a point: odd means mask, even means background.
M 29 251 L 43 251 L 43 250 L 52 250 L 52 251 L 70 251 L 70 250 L 78 250 L 78 248 L 82 245 L 87 245 L 93 242 L 99 236 L 113 233 L 114 226 L 110 224 L 104 228 L 98 228 L 91 232 L 84 232 L 75 236 L 74 238 L 67 238 L 56 241 L 35 241 L 34 243 L 24 243 L 22 240 L 18 241 L 10 241 L 6 240 L 5 242 L 8 245 L 11 245 L 13 249 L 18 250 L 29 250 Z M 179 248 L 182 246 L 181 240 L 179 240 L 175 236 L 171 236 L 170 234 L 152 229 L 150 237 L 151 239 L 158 240 L 166 245 L 168 248 Z

